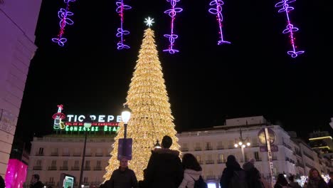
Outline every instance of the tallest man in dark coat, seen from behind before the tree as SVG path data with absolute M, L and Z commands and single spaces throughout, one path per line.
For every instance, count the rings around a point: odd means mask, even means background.
M 184 177 L 184 169 L 181 166 L 179 151 L 170 150 L 172 139 L 164 136 L 162 148 L 155 148 L 152 151 L 144 182 L 148 188 L 178 188 Z

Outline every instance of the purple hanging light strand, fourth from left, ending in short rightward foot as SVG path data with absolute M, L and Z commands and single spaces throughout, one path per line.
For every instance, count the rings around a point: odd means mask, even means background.
M 222 0 L 213 0 L 211 3 L 209 3 L 210 6 L 216 6 L 216 8 L 211 8 L 208 9 L 209 13 L 211 14 L 216 14 L 216 20 L 218 21 L 218 28 L 220 31 L 218 33 L 220 34 L 220 41 L 218 41 L 218 45 L 223 44 L 223 43 L 231 43 L 229 41 L 224 41 L 223 40 L 223 33 L 222 33 L 222 21 L 223 21 L 223 16 L 222 16 L 222 5 L 224 2 Z

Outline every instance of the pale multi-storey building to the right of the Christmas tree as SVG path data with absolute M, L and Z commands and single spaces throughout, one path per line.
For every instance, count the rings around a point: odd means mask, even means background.
M 268 125 L 263 116 L 230 119 L 226 120 L 226 125 L 181 132 L 177 137 L 179 137 L 182 154 L 187 152 L 194 154 L 203 167 L 203 178 L 218 187 L 228 155 L 235 155 L 240 165 L 254 158 L 255 167 L 261 172 L 262 177 L 270 181 L 268 152 L 263 151 L 265 145 L 260 143 L 260 137 L 258 137 L 258 133 L 264 127 L 275 132 L 273 145 L 277 149 L 272 152 L 275 176 L 283 173 L 300 177 L 307 175 L 311 167 L 322 169 L 322 173 L 325 174 L 332 170 L 329 160 L 319 157 L 317 152 L 301 139 L 291 139 L 290 134 L 279 125 Z M 240 140 L 240 130 L 243 139 L 247 138 L 246 140 L 250 142 L 250 146 L 243 148 L 244 160 L 241 149 L 234 146 Z

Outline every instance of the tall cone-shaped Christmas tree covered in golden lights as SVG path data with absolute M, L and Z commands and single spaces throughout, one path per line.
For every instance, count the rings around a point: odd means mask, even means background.
M 157 140 L 169 135 L 173 144 L 171 149 L 179 150 L 178 138 L 174 129 L 174 117 L 171 115 L 169 98 L 162 73 L 161 62 L 154 41 L 154 31 L 147 28 L 139 50 L 139 59 L 134 68 L 133 77 L 127 93 L 127 105 L 132 110 L 127 125 L 127 138 L 133 139 L 132 160 L 129 168 L 133 169 L 137 179 L 143 179 L 143 169 L 147 167 L 149 157 Z M 110 179 L 112 172 L 120 162 L 117 160 L 118 140 L 124 132 L 123 123 L 112 145 L 109 165 L 105 168 L 105 180 Z

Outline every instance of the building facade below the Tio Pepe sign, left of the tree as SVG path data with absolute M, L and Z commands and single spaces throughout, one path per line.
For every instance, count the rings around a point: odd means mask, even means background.
M 33 137 L 26 186 L 32 174 L 39 174 L 46 186 L 59 186 L 60 174 L 76 177 L 78 186 L 83 160 L 83 135 L 49 135 Z M 89 135 L 85 150 L 83 184 L 98 186 L 104 181 L 105 167 L 110 160 L 113 136 Z

